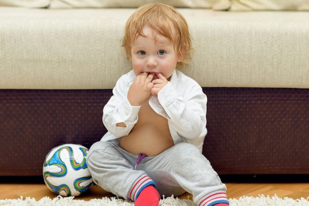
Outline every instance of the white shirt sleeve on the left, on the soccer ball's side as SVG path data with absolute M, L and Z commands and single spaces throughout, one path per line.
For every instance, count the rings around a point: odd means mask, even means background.
M 138 120 L 140 106 L 132 106 L 127 100 L 129 87 L 125 77 L 120 77 L 113 89 L 113 96 L 103 108 L 103 124 L 116 138 L 128 135 Z M 126 127 L 116 126 L 121 122 Z

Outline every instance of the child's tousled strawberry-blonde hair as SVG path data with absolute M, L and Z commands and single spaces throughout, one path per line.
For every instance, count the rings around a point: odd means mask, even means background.
M 191 35 L 186 19 L 174 7 L 162 3 L 148 3 L 140 6 L 127 20 L 122 46 L 125 48 L 127 58 L 131 56 L 134 40 L 143 34 L 147 26 L 171 40 L 175 51 L 182 61 L 178 66 L 188 64 L 191 60 Z M 185 45 L 185 50 L 183 49 Z

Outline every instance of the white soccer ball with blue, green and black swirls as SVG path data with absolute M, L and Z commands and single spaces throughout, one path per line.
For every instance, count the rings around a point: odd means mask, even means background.
M 92 185 L 86 164 L 88 149 L 79 144 L 62 144 L 46 155 L 43 177 L 54 193 L 68 197 L 78 196 Z

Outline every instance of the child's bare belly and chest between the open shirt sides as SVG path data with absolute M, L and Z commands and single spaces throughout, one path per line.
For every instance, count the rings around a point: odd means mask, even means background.
M 155 156 L 172 147 L 167 119 L 154 112 L 148 102 L 142 104 L 138 122 L 130 134 L 119 138 L 119 146 L 133 154 Z

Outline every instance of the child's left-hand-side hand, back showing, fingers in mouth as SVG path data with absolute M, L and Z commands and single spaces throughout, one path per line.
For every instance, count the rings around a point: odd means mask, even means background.
M 128 91 L 128 101 L 132 106 L 139 106 L 151 95 L 151 89 L 154 87 L 152 80 L 154 73 L 141 72 L 131 84 Z

